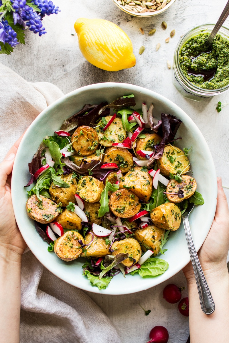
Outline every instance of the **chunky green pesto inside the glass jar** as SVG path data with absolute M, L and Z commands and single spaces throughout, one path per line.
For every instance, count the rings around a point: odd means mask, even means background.
M 185 78 L 197 87 L 219 89 L 229 84 L 229 39 L 217 34 L 212 48 L 209 33 L 190 38 L 181 48 L 179 63 Z

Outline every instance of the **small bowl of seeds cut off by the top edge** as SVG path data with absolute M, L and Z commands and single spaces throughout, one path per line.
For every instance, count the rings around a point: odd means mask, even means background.
M 122 11 L 136 17 L 151 17 L 167 10 L 175 0 L 112 0 Z

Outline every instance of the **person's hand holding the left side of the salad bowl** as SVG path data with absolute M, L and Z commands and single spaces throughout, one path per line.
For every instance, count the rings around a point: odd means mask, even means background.
M 0 251 L 22 255 L 26 244 L 16 224 L 11 201 L 11 173 L 18 146 L 22 137 L 11 147 L 0 163 Z M 20 201 L 20 199 L 19 199 Z

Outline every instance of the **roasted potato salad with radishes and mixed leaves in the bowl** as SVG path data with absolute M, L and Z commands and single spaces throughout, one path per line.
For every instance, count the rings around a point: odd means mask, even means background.
M 154 117 L 152 103 L 135 107 L 134 94 L 84 105 L 28 164 L 27 215 L 48 251 L 65 262 L 79 258 L 99 289 L 119 273 L 164 273 L 164 245 L 188 203 L 204 203 L 190 169 L 192 147 L 175 138 L 182 121 Z

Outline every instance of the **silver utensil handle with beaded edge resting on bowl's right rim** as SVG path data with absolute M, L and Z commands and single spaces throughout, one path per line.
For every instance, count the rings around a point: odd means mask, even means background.
M 199 300 L 201 302 L 201 308 L 202 308 L 202 311 L 206 315 L 210 315 L 215 311 L 215 303 L 214 303 L 213 297 L 211 296 L 207 281 L 205 279 L 203 270 L 199 263 L 196 249 L 193 244 L 193 239 L 192 239 L 190 226 L 188 222 L 188 215 L 183 217 L 183 223 L 184 223 L 185 236 L 186 236 L 187 244 L 188 244 L 188 250 L 190 253 L 192 266 L 193 266 L 193 270 L 195 274 L 196 285 L 198 288 Z

